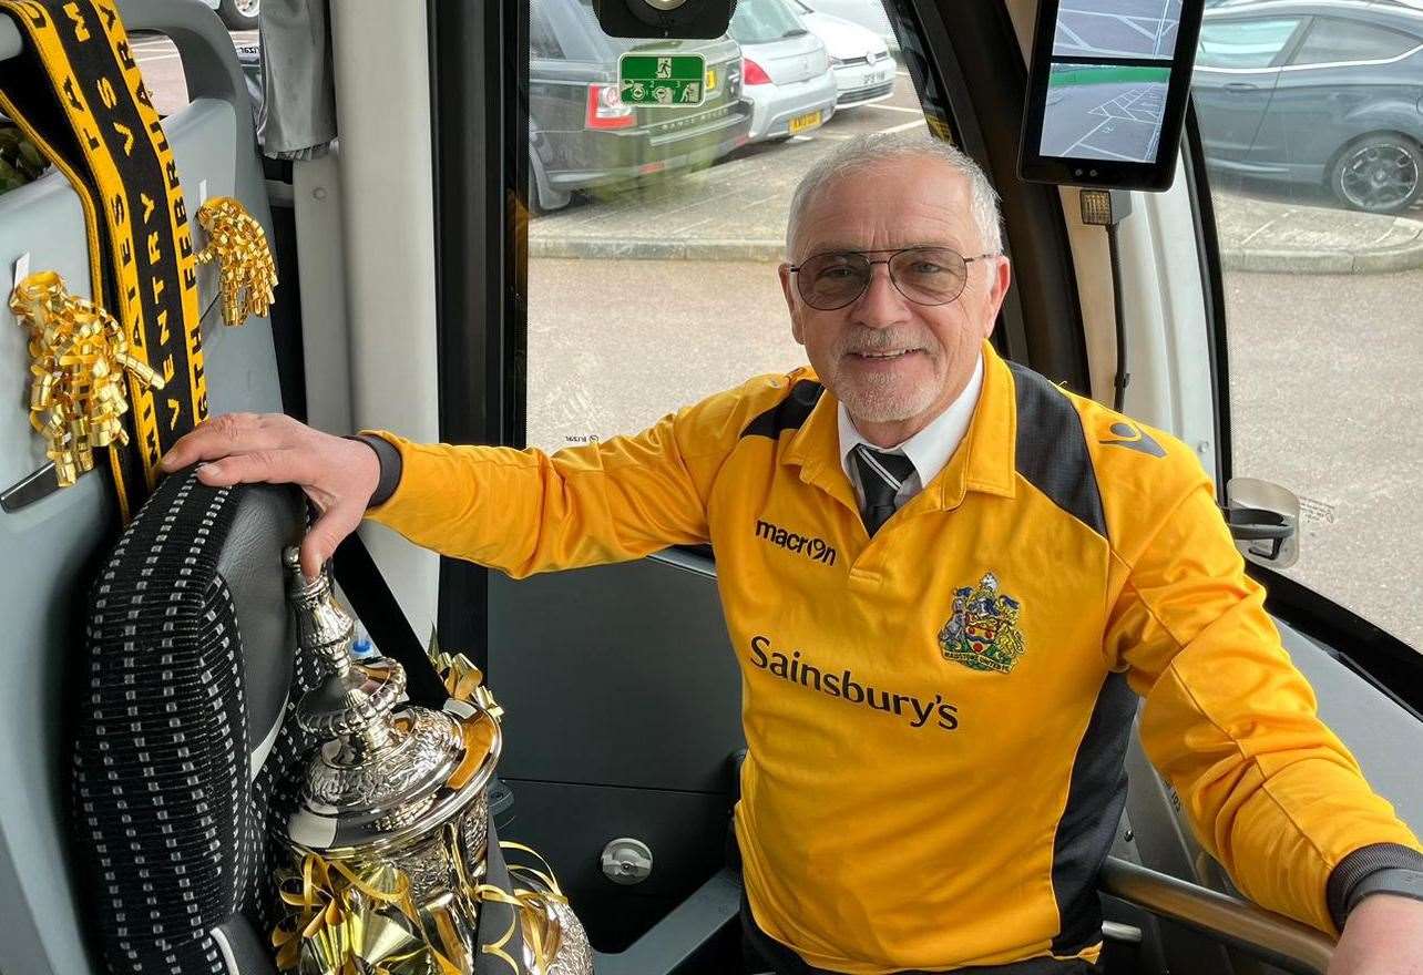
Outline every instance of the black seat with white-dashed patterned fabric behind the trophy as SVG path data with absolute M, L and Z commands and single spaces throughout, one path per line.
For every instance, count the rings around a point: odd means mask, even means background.
M 175 474 L 92 585 L 73 860 L 115 975 L 272 971 L 252 949 L 270 929 L 269 817 L 312 746 L 292 712 L 317 676 L 282 599 L 302 511 L 290 488 Z M 239 622 L 259 638 L 245 643 Z

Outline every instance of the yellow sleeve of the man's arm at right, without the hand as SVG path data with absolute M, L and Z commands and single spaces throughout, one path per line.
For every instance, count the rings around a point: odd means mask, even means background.
M 1336 868 L 1366 847 L 1420 845 L 1319 720 L 1204 475 L 1118 572 L 1107 650 L 1146 699 L 1147 756 L 1247 897 L 1336 932 Z

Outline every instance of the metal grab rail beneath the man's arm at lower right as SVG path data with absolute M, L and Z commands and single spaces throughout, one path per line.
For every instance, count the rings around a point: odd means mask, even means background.
M 1298 975 L 1325 975 L 1333 942 L 1311 927 L 1118 857 L 1101 865 L 1100 890 L 1194 928 Z

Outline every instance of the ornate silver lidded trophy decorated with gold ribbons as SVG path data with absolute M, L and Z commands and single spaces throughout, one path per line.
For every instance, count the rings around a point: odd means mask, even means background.
M 556 881 L 511 867 L 529 888 L 499 885 L 498 847 L 498 868 L 487 870 L 487 789 L 502 743 L 499 712 L 484 703 L 492 699 L 470 693 L 443 710 L 401 703 L 400 663 L 351 656 L 353 622 L 330 579 L 307 582 L 295 548 L 286 568 L 297 638 L 327 673 L 297 706 L 322 744 L 282 837 L 293 870 L 279 875 L 277 965 L 303 975 L 591 975 L 592 951 Z M 462 676 L 447 685 L 478 685 Z M 508 931 L 481 925 L 481 911 L 504 911 Z

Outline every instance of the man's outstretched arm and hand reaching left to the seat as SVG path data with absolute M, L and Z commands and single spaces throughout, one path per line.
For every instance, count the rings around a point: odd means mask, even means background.
M 788 379 L 757 377 L 635 437 L 552 455 L 384 431 L 333 437 L 280 414 L 226 414 L 182 437 L 162 467 L 201 461 L 199 480 L 215 487 L 299 484 L 322 511 L 302 544 L 309 576 L 370 517 L 418 545 L 522 578 L 709 541 L 720 464 Z

